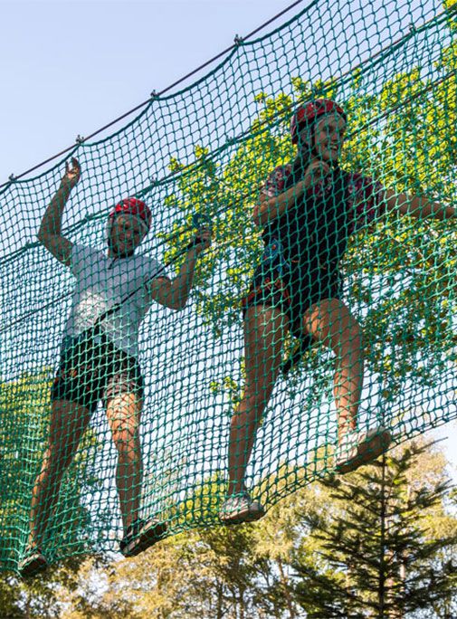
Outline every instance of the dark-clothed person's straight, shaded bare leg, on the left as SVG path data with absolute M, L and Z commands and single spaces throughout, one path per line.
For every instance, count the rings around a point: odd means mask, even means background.
M 229 440 L 229 494 L 243 490 L 255 433 L 281 366 L 282 341 L 289 320 L 281 310 L 255 306 L 244 319 L 246 386 L 234 412 Z

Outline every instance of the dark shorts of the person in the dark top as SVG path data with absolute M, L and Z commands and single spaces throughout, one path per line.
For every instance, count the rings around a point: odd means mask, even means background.
M 281 277 L 278 272 L 265 270 L 261 265 L 242 300 L 243 316 L 251 307 L 277 307 L 289 318 L 290 332 L 299 337 L 305 311 L 321 300 L 341 297 L 342 278 L 338 271 L 295 271 Z

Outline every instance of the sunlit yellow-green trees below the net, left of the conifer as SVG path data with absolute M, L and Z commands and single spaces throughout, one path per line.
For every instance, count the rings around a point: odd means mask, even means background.
M 110 567 L 103 578 L 104 594 L 90 604 L 86 576 L 86 584 L 72 597 L 72 610 L 63 617 L 281 616 L 284 603 L 275 595 L 275 578 L 254 549 L 253 531 L 247 527 L 181 534 L 140 560 Z

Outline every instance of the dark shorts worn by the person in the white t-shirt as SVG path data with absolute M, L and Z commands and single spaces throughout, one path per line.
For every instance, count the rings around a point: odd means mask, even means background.
M 101 400 L 121 394 L 144 395 L 144 381 L 135 357 L 115 348 L 106 336 L 69 338 L 51 390 L 51 400 L 75 402 L 90 410 Z

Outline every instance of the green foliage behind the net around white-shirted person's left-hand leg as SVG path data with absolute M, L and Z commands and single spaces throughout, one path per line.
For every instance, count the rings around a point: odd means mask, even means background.
M 0 557 L 4 569 L 14 570 L 29 531 L 32 489 L 40 470 L 49 431 L 52 373 L 43 370 L 0 384 Z M 90 485 L 82 454 L 96 447 L 89 432 L 62 482 L 60 500 L 48 529 L 47 555 L 59 559 L 90 548 L 90 514 L 81 502 Z M 63 524 L 64 523 L 64 524 Z

